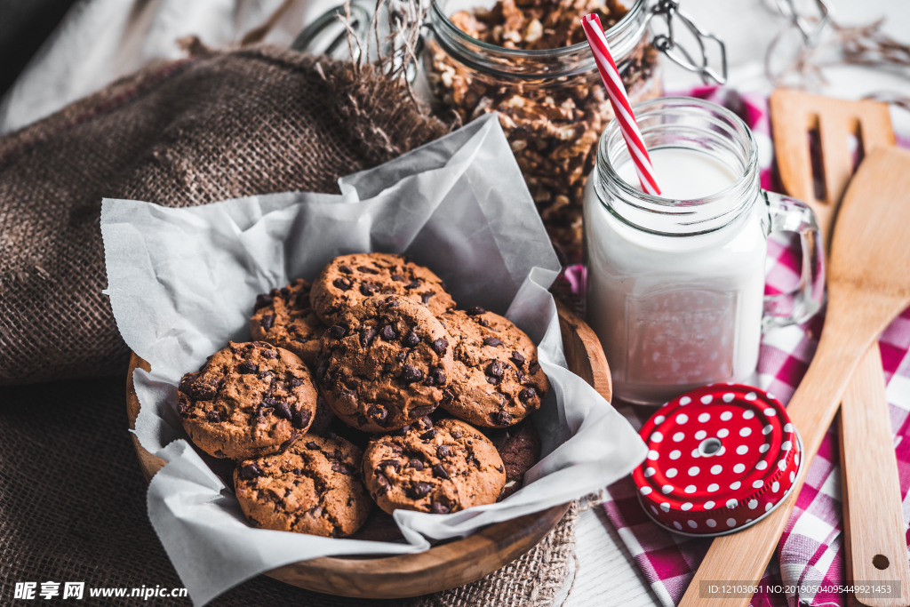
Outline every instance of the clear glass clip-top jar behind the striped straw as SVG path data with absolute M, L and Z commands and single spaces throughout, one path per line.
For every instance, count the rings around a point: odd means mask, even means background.
M 436 0 L 430 8 L 424 71 L 442 109 L 462 122 L 497 111 L 544 225 L 564 261 L 581 260 L 581 200 L 594 150 L 613 117 L 587 42 L 519 50 L 462 32 L 450 15 L 495 0 Z M 662 94 L 652 12 L 634 0 L 607 40 L 632 102 Z M 604 24 L 606 25 L 606 24 Z

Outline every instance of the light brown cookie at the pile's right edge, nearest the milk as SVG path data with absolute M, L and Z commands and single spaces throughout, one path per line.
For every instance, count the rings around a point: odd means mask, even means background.
M 550 382 L 537 347 L 521 329 L 482 308 L 450 310 L 440 321 L 453 339 L 452 383 L 441 406 L 487 427 L 511 426 L 541 406 Z

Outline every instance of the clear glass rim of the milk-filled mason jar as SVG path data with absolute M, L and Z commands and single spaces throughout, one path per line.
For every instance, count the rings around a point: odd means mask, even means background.
M 660 207 L 679 208 L 699 206 L 720 200 L 724 197 L 729 197 L 733 195 L 737 190 L 743 190 L 743 188 L 748 185 L 747 182 L 753 181 L 753 176 L 758 170 L 758 146 L 755 143 L 752 129 L 749 128 L 749 126 L 746 126 L 741 117 L 736 116 L 726 107 L 720 106 L 711 101 L 699 99 L 697 97 L 665 96 L 635 104 L 632 106 L 632 112 L 635 116 L 640 116 L 641 114 L 645 114 L 654 106 L 672 106 L 673 104 L 679 104 L 679 109 L 682 109 L 685 106 L 696 106 L 700 109 L 708 110 L 715 114 L 718 114 L 733 123 L 733 126 L 736 127 L 736 130 L 740 131 L 743 134 L 746 145 L 749 149 L 749 158 L 748 161 L 744 163 L 740 176 L 737 177 L 730 186 L 723 188 L 719 192 L 715 192 L 709 196 L 691 198 L 686 200 L 653 196 L 652 194 L 643 192 L 641 189 L 632 186 L 632 184 L 627 183 L 625 179 L 620 177 L 616 170 L 613 168 L 612 162 L 610 161 L 610 155 L 607 150 L 607 140 L 610 137 L 615 137 L 616 131 L 619 130 L 619 122 L 614 118 L 610 121 L 610 124 L 603 129 L 601 141 L 597 147 L 597 165 L 599 167 L 604 167 L 606 177 L 609 177 L 610 182 L 613 186 L 620 188 L 622 190 L 622 193 L 628 197 L 638 198 L 639 200 Z

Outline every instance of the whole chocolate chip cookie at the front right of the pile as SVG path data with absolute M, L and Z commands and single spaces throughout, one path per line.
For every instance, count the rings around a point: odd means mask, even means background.
M 370 440 L 363 454 L 367 491 L 383 511 L 448 514 L 496 501 L 506 482 L 499 453 L 460 420 L 421 418 Z

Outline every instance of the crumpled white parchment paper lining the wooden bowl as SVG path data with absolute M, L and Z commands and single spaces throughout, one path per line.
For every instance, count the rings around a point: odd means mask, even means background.
M 126 343 L 152 369 L 133 376 L 142 404 L 136 437 L 168 462 L 149 485 L 148 516 L 197 605 L 288 562 L 427 550 L 597 491 L 647 452 L 622 415 L 566 368 L 547 291 L 559 263 L 496 116 L 339 186 L 341 195 L 289 192 L 180 209 L 104 201 L 106 293 Z M 545 457 L 500 503 L 447 515 L 396 511 L 406 542 L 254 529 L 187 443 L 177 383 L 229 339 L 248 340 L 258 293 L 311 280 L 329 259 L 363 251 L 413 255 L 461 308 L 505 313 L 538 343 L 552 385 L 532 418 Z

